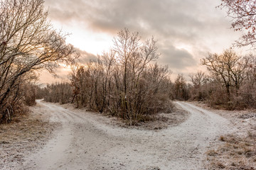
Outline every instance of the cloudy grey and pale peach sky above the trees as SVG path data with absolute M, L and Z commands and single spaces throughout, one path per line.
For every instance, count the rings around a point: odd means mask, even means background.
M 45 0 L 54 28 L 71 33 L 67 42 L 82 50 L 86 61 L 112 46 L 121 29 L 154 35 L 161 57 L 173 77 L 202 69 L 208 52 L 223 52 L 238 40 L 220 0 Z M 66 69 L 58 69 L 60 78 Z M 46 82 L 46 74 L 41 81 Z M 56 80 L 55 80 L 56 81 Z

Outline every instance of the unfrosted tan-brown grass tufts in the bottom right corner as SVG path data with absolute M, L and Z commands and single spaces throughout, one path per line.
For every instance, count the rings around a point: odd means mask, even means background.
M 250 132 L 245 137 L 225 135 L 220 137 L 218 149 L 207 154 L 208 169 L 244 169 L 256 167 L 256 133 Z

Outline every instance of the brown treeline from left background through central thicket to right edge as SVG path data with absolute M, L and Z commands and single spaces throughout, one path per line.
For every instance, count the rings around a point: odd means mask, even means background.
M 137 34 L 122 30 L 115 40 L 129 42 L 122 40 L 123 36 L 132 38 L 133 35 Z M 150 43 L 153 45 L 148 47 L 156 49 L 155 42 Z M 129 57 L 120 56 L 124 52 L 114 48 L 95 61 L 75 67 L 70 83 L 51 84 L 43 89 L 45 100 L 111 113 L 129 120 L 131 125 L 150 120 L 159 112 L 171 112 L 170 100 L 203 101 L 229 110 L 256 108 L 256 59 L 252 55 L 241 57 L 232 50 L 220 55 L 208 54 L 201 60 L 208 72 L 191 74 L 188 83 L 182 74 L 171 81 L 168 67 L 144 61 L 147 57 L 140 52 L 150 55 L 150 51 L 156 50 L 145 50 L 143 45 L 135 54 L 128 50 Z M 157 56 L 151 55 L 149 59 Z

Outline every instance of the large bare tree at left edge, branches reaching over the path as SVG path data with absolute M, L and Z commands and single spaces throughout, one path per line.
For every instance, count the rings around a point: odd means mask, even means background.
M 13 108 L 24 77 L 38 69 L 53 73 L 73 62 L 73 46 L 47 21 L 43 0 L 4 0 L 0 6 L 0 112 Z M 16 91 L 16 92 L 15 92 Z

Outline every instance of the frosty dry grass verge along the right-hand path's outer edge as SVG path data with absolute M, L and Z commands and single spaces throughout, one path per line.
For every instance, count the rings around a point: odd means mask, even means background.
M 230 135 L 220 136 L 206 152 L 206 169 L 256 169 L 256 110 L 224 111 L 204 103 L 193 104 L 227 118 L 235 130 Z

